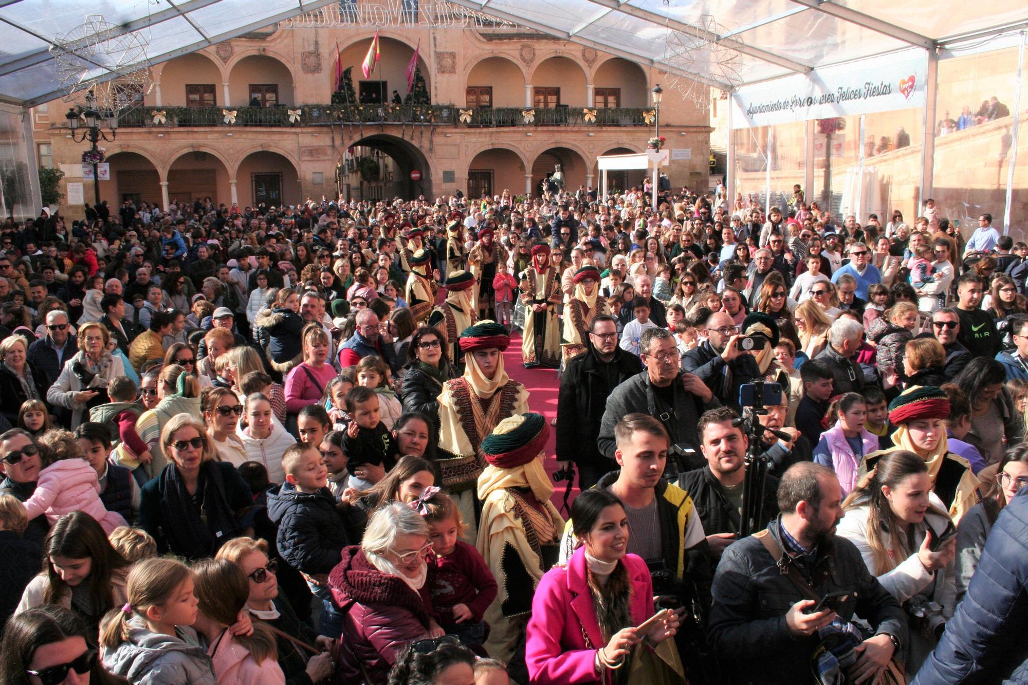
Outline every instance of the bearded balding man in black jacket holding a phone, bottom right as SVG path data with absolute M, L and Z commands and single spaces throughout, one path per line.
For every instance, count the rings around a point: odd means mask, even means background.
M 794 464 L 778 485 L 778 508 L 767 530 L 729 546 L 718 565 L 708 637 L 726 682 L 813 683 L 812 669 L 827 668 L 820 657 L 812 662 L 827 634 L 840 643 L 833 654 L 853 657 L 847 682 L 874 682 L 904 648 L 908 619 L 856 546 L 835 534 L 839 478 L 819 464 Z M 846 599 L 815 610 L 836 591 Z M 861 642 L 850 633 L 854 616 L 873 637 Z M 830 627 L 834 621 L 844 625 Z

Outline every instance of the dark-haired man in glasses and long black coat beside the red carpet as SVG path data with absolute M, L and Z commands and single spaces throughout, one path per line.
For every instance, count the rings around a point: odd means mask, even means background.
M 618 468 L 617 462 L 600 453 L 595 436 L 611 392 L 642 370 L 638 357 L 618 346 L 618 327 L 612 317 L 592 320 L 589 341 L 589 349 L 564 367 L 557 399 L 557 467 L 575 462 L 582 491 Z

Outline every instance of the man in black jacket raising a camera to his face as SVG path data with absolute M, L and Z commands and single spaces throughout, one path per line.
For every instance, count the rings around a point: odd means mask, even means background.
M 750 314 L 743 320 L 742 330 L 748 328 L 757 316 L 767 315 Z M 761 380 L 757 359 L 743 350 L 743 345 L 763 350 L 765 340 L 763 335 L 760 339 L 740 335 L 731 315 L 717 312 L 707 319 L 707 339 L 686 353 L 682 367 L 695 373 L 721 404 L 740 411 L 739 386 Z

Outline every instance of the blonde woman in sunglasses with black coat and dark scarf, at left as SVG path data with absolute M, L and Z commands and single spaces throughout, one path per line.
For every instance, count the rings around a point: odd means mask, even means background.
M 250 488 L 217 453 L 198 419 L 173 417 L 160 433 L 168 465 L 143 486 L 139 525 L 161 554 L 187 560 L 212 556 L 243 535 L 240 515 L 253 506 Z

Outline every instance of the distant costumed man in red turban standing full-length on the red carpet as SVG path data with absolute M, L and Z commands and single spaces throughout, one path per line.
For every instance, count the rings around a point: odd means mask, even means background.
M 521 361 L 525 368 L 560 365 L 560 328 L 557 305 L 560 275 L 550 264 L 550 247 L 544 243 L 531 248 L 531 265 L 524 271 L 524 336 L 521 339 Z

